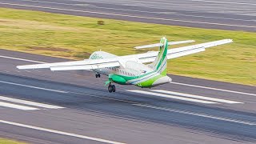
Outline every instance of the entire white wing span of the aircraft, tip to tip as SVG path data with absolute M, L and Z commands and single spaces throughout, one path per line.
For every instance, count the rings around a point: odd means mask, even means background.
M 233 42 L 232 39 L 223 39 L 220 41 L 206 42 L 202 44 L 184 46 L 167 51 L 167 58 L 178 58 L 188 54 L 195 54 L 204 51 L 206 48 L 212 46 L 218 46 L 226 43 Z M 104 59 L 86 59 L 83 61 L 74 62 L 55 62 L 35 65 L 17 66 L 18 69 L 44 69 L 50 68 L 50 70 L 94 70 L 105 67 L 121 66 L 122 61 L 126 60 L 139 60 L 139 62 L 154 62 L 154 59 L 158 55 L 158 51 L 148 52 L 145 54 L 133 54 L 121 56 L 118 58 L 104 58 Z

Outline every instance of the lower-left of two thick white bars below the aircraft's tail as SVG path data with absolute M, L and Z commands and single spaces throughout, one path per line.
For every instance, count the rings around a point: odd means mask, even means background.
M 134 92 L 134 93 L 139 93 L 139 94 L 149 94 L 149 95 L 154 95 L 154 96 L 164 97 L 164 98 L 173 98 L 173 99 L 178 99 L 178 100 L 188 101 L 188 102 L 198 102 L 198 103 L 205 103 L 205 104 L 217 103 L 217 102 L 210 102 L 210 101 L 204 101 L 204 100 L 193 99 L 193 98 L 178 97 L 178 96 L 169 95 L 169 94 L 152 93 L 152 92 L 149 92 L 149 91 L 142 91 L 142 90 L 127 90 L 127 91 Z

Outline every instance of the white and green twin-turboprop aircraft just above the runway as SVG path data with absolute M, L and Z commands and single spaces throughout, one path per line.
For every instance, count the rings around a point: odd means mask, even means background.
M 120 85 L 135 85 L 142 88 L 151 88 L 169 83 L 171 82 L 171 78 L 166 75 L 167 59 L 198 53 L 206 50 L 206 48 L 233 41 L 232 39 L 223 39 L 220 41 L 206 42 L 168 50 L 169 45 L 187 42 L 194 41 L 168 42 L 166 38 L 161 38 L 160 43 L 134 47 L 135 49 L 142 49 L 159 46 L 158 51 L 149 51 L 145 54 L 117 56 L 104 51 L 96 51 L 90 55 L 89 59 L 82 61 L 56 62 L 17 67 L 18 69 L 50 68 L 50 70 L 54 71 L 92 70 L 96 73 L 96 78 L 100 78 L 100 74 L 108 76 L 105 86 L 108 85 L 108 90 L 112 93 L 116 90 L 112 83 L 118 83 Z

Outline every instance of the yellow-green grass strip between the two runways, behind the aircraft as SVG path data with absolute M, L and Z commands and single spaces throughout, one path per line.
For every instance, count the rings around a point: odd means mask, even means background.
M 105 25 L 99 26 L 98 20 Z M 231 44 L 169 60 L 168 73 L 256 86 L 256 33 L 0 8 L 0 47 L 6 50 L 72 59 L 88 58 L 95 50 L 138 54 L 146 50 L 134 46 L 156 43 L 162 36 L 196 43 L 234 39 Z

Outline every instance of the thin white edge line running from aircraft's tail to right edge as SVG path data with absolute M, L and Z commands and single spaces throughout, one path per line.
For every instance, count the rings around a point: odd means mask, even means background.
M 246 94 L 246 95 L 256 96 L 256 94 L 244 93 L 244 92 L 239 92 L 239 91 L 234 91 L 234 90 L 223 90 L 223 89 L 218 89 L 218 88 L 213 88 L 213 87 L 190 85 L 190 84 L 179 83 L 179 82 L 170 82 L 170 83 L 175 84 L 175 85 L 198 87 L 198 88 L 202 88 L 202 89 L 225 91 L 225 92 L 234 93 L 234 94 Z

